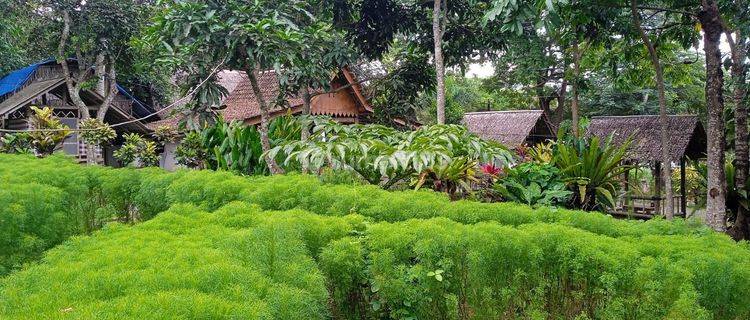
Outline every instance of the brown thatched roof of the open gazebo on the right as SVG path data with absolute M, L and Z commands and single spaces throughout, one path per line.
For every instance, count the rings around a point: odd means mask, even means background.
M 702 157 L 706 152 L 706 131 L 698 116 L 670 115 L 668 119 L 670 159 L 676 162 L 683 156 Z M 612 135 L 616 145 L 632 136 L 627 159 L 640 162 L 661 160 L 660 134 L 659 116 L 652 115 L 593 117 L 588 128 L 589 136 Z

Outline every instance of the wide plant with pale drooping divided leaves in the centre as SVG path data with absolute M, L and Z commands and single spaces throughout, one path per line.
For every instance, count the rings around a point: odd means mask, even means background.
M 282 155 L 286 165 L 354 171 L 386 189 L 412 176 L 419 187 L 429 178 L 440 181 L 438 190 L 451 194 L 473 177 L 470 173 L 478 161 L 508 163 L 511 159 L 504 147 L 479 139 L 461 126 L 401 132 L 380 125 L 344 126 L 326 119 L 317 120 L 309 140 L 285 143 L 270 154 Z

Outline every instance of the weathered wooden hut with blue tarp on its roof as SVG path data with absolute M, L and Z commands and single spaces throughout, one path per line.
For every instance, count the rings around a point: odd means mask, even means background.
M 75 60 L 70 60 L 69 63 L 71 68 L 77 69 Z M 150 132 L 144 121 L 136 120 L 151 115 L 154 110 L 135 99 L 123 87 L 117 85 L 117 89 L 117 96 L 112 101 L 104 122 L 127 122 L 115 128 L 118 135 L 128 132 Z M 90 106 L 89 113 L 94 113 L 95 108 L 104 101 L 104 98 L 92 88 L 82 89 L 81 98 Z M 62 66 L 55 60 L 42 61 L 0 78 L 0 128 L 29 129 L 30 106 L 50 107 L 63 124 L 73 129 L 78 127 L 81 115 L 70 101 Z M 62 148 L 65 153 L 75 156 L 80 161 L 86 160 L 86 146 L 76 134 L 66 138 Z M 97 155 L 101 158 L 98 161 L 112 163 L 112 151 L 112 147 L 99 150 Z

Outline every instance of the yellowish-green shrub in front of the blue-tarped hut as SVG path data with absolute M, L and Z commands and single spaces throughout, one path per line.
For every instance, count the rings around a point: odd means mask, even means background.
M 62 142 L 71 133 L 68 126 L 62 124 L 60 119 L 53 115 L 49 107 L 39 109 L 31 106 L 34 114 L 31 115 L 31 127 L 41 131 L 30 131 L 31 147 L 40 157 L 51 155 L 60 148 Z

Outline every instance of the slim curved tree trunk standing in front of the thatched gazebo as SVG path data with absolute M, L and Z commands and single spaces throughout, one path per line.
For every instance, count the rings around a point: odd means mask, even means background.
M 659 61 L 659 55 L 656 53 L 654 44 L 651 43 L 646 30 L 641 26 L 641 16 L 638 12 L 638 4 L 636 0 L 630 1 L 630 11 L 633 16 L 633 24 L 635 25 L 638 32 L 641 34 L 643 44 L 648 49 L 648 54 L 651 57 L 651 64 L 654 66 L 656 71 L 656 88 L 659 92 L 659 136 L 661 140 L 661 163 L 662 163 L 662 178 L 664 183 L 664 193 L 666 201 L 664 201 L 664 215 L 668 220 L 674 217 L 674 204 L 672 203 L 672 160 L 669 158 L 669 133 L 668 125 L 669 119 L 667 118 L 667 99 L 664 93 L 664 73 L 662 71 L 661 62 Z

